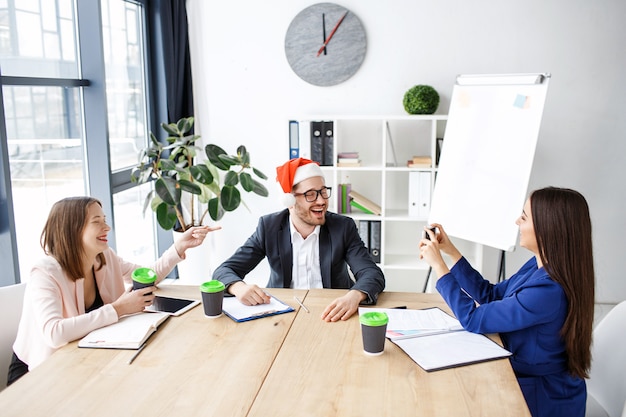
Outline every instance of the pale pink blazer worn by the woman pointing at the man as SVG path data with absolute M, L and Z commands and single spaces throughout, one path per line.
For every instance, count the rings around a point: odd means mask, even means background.
M 104 252 L 106 265 L 96 271 L 104 306 L 85 314 L 84 279 L 72 281 L 52 256 L 38 261 L 31 270 L 24 294 L 24 307 L 13 351 L 29 370 L 34 369 L 67 343 L 94 329 L 118 321 L 111 303 L 132 285 L 131 273 L 140 267 L 126 262 L 112 250 Z M 174 246 L 152 268 L 160 282 L 182 258 Z M 97 266 L 96 266 L 97 268 Z

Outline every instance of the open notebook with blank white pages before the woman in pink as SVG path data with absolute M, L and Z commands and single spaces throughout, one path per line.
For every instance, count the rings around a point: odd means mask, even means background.
M 139 349 L 168 317 L 170 317 L 168 313 L 137 313 L 124 316 L 117 323 L 93 330 L 80 339 L 78 347 Z

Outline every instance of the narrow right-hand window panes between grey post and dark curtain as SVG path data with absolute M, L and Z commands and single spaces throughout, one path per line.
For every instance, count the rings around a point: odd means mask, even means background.
M 127 181 L 148 134 L 144 14 L 137 3 L 102 0 L 111 170 Z M 156 256 L 154 216 L 149 210 L 144 217 L 141 211 L 150 187 L 145 184 L 113 195 L 117 252 L 143 264 Z

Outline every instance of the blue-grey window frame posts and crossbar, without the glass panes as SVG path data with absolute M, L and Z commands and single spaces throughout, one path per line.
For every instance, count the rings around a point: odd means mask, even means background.
M 142 19 L 146 54 L 144 100 L 149 130 L 156 132 L 159 129 L 157 121 L 167 118 L 163 42 L 158 23 L 161 1 L 124 1 L 141 5 L 144 11 Z M 130 180 L 132 167 L 114 172 L 110 168 L 101 3 L 99 0 L 75 0 L 75 5 L 79 78 L 2 76 L 0 73 L 0 248 L 2 249 L 0 263 L 5 267 L 5 273 L 0 275 L 0 286 L 21 282 L 2 91 L 4 86 L 52 86 L 81 90 L 86 191 L 89 195 L 98 196 L 102 202 L 104 213 L 112 227 L 109 245 L 114 249 L 116 241 L 113 195 L 136 186 Z M 108 175 L 102 175 L 103 172 L 107 172 Z M 162 253 L 172 242 L 171 233 L 157 227 L 158 253 Z

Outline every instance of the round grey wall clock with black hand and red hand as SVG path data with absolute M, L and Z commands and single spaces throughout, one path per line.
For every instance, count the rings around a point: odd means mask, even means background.
M 291 69 L 304 81 L 331 86 L 352 77 L 367 50 L 359 18 L 334 3 L 318 3 L 294 17 L 285 36 Z

